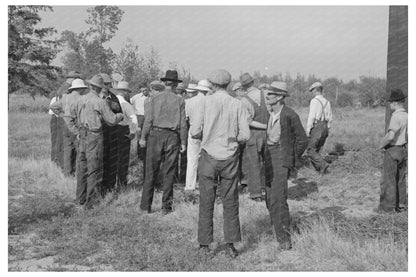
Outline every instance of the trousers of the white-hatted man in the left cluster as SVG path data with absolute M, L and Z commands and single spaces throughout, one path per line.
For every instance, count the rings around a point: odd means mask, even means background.
M 64 174 L 66 176 L 73 176 L 76 169 L 78 141 L 77 137 L 68 129 L 66 124 L 63 125 L 63 138 Z

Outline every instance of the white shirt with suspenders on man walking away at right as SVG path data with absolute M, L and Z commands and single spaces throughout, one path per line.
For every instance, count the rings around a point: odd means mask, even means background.
M 324 111 L 322 111 L 322 106 L 325 107 Z M 311 100 L 311 103 L 309 106 L 308 122 L 306 124 L 307 135 L 309 135 L 313 127 L 313 124 L 316 123 L 318 120 L 328 121 L 328 128 L 331 127 L 331 122 L 332 122 L 331 103 L 328 100 L 326 100 L 322 95 L 317 95 Z

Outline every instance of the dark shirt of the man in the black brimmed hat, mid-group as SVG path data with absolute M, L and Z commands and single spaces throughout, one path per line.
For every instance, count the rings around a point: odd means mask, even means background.
M 146 139 L 152 127 L 169 129 L 179 133 L 181 144 L 186 145 L 188 128 L 186 126 L 185 101 L 172 90 L 164 91 L 148 98 L 144 106 L 142 139 Z M 147 100 L 147 99 L 146 99 Z

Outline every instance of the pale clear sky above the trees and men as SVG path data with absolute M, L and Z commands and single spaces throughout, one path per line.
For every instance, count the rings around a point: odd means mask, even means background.
M 131 39 L 155 48 L 163 70 L 175 62 L 202 79 L 223 68 L 344 81 L 386 77 L 388 6 L 119 6 L 125 13 L 107 43 Z M 42 26 L 81 32 L 88 6 L 54 6 Z M 56 64 L 61 64 L 60 58 Z

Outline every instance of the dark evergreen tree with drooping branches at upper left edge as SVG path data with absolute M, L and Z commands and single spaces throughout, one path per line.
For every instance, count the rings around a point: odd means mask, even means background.
M 50 63 L 56 57 L 59 42 L 48 39 L 56 33 L 52 27 L 36 28 L 40 11 L 49 6 L 8 6 L 8 92 L 25 91 L 48 95 L 56 84 L 59 68 Z

